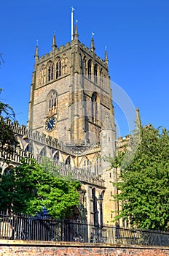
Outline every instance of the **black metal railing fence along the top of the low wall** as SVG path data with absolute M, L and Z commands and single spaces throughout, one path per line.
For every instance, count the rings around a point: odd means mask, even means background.
M 169 233 L 0 212 L 0 239 L 169 246 Z

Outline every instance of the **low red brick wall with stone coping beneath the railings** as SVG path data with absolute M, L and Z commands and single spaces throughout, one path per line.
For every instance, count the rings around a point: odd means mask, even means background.
M 125 247 L 98 244 L 74 244 L 56 242 L 0 241 L 0 256 L 168 256 L 169 247 Z

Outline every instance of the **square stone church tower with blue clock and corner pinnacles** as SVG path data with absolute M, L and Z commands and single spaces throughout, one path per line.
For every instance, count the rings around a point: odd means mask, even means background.
M 93 38 L 90 49 L 79 42 L 77 26 L 66 46 L 58 48 L 54 35 L 50 53 L 39 57 L 38 50 L 28 127 L 72 146 L 99 143 L 106 113 L 114 126 L 107 53 L 103 61 Z

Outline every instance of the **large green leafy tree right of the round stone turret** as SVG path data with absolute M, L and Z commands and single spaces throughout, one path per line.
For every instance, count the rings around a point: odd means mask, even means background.
M 121 173 L 114 184 L 119 189 L 114 200 L 122 203 L 122 210 L 115 220 L 125 217 L 137 227 L 168 230 L 169 132 L 151 125 L 139 131 L 141 142 L 135 154 L 129 148 L 111 163 Z

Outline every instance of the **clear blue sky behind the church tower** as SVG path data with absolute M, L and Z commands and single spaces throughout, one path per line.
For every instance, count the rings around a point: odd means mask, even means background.
M 36 39 L 39 55 L 52 49 L 54 30 L 58 47 L 69 42 L 71 6 L 79 40 L 90 47 L 93 31 L 95 53 L 102 59 L 106 46 L 111 80 L 140 109 L 142 124 L 168 129 L 168 0 L 1 1 L 1 100 L 14 108 L 19 123 L 28 119 Z M 127 121 L 118 105 L 115 115 L 118 136 L 127 135 Z

